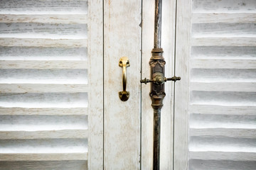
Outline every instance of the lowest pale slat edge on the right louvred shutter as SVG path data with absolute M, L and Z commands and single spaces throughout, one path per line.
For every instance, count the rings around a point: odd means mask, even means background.
M 191 159 L 203 159 L 203 160 L 233 160 L 233 161 L 255 161 L 255 152 L 189 152 Z

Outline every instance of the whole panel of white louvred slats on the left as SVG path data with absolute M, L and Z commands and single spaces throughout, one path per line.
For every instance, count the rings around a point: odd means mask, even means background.
M 83 0 L 0 1 L 0 169 L 87 169 L 87 11 Z

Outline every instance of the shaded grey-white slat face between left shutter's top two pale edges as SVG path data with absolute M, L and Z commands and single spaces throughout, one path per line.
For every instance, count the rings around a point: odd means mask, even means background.
M 87 24 L 0 23 L 1 38 L 86 39 Z

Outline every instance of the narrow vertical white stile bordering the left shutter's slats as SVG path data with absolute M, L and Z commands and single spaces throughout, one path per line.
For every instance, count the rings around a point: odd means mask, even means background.
M 88 77 L 90 84 L 88 126 L 88 168 L 103 169 L 103 1 L 88 1 Z

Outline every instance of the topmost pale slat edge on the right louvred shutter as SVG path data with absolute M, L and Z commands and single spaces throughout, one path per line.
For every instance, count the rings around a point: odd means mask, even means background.
M 193 13 L 192 23 L 255 23 L 256 13 Z

